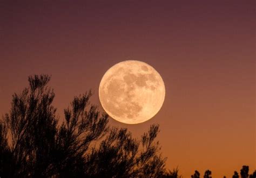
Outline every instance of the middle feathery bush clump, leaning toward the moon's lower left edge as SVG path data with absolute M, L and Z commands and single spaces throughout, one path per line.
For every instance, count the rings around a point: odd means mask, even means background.
M 90 145 L 102 138 L 108 127 L 107 115 L 100 113 L 95 105 L 91 105 L 89 98 L 91 91 L 85 95 L 75 97 L 71 109 L 65 109 L 65 121 L 57 134 L 56 153 L 58 158 L 54 162 L 55 172 L 60 177 L 77 177 L 84 175 L 85 157 Z M 74 173 L 75 172 L 75 173 Z

